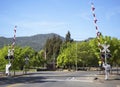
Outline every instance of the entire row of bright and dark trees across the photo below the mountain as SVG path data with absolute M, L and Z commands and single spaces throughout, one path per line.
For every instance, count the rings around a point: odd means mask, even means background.
M 110 45 L 108 48 L 110 58 L 107 58 L 107 62 L 112 66 L 120 65 L 120 40 L 109 36 L 101 36 L 101 44 Z M 8 59 L 5 56 L 8 55 L 8 46 L 4 46 L 0 49 L 0 70 L 5 70 Z M 26 62 L 25 58 L 29 60 Z M 91 67 L 98 66 L 98 61 L 101 60 L 100 50 L 98 47 L 97 38 L 89 41 L 71 41 L 70 32 L 66 34 L 66 40 L 63 42 L 60 37 L 54 36 L 48 39 L 45 44 L 45 48 L 40 51 L 35 51 L 31 47 L 15 46 L 14 59 L 11 59 L 12 70 L 23 70 L 27 68 L 44 67 L 47 64 L 48 67 L 54 68 L 57 65 L 59 68 L 75 68 L 78 67 Z M 26 65 L 27 63 L 27 65 Z

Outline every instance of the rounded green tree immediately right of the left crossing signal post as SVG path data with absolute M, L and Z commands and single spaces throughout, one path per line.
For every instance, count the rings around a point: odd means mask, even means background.
M 19 47 L 16 46 L 14 50 L 14 59 L 11 60 L 11 69 L 14 70 L 14 75 L 16 70 L 24 70 L 32 67 L 32 58 L 34 50 L 30 47 Z M 26 57 L 29 60 L 26 60 Z

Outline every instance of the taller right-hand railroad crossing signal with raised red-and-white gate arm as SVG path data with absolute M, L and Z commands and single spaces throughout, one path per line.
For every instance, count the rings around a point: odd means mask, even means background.
M 94 4 L 91 3 L 91 9 L 92 9 L 92 13 L 93 13 L 93 17 L 94 17 L 94 25 L 95 25 L 95 29 L 96 29 L 96 34 L 97 34 L 97 40 L 98 40 L 98 47 L 100 49 L 100 52 L 103 53 L 101 54 L 101 57 L 102 57 L 102 60 L 104 60 L 103 62 L 103 67 L 105 68 L 105 79 L 108 79 L 108 72 L 107 72 L 107 69 L 110 65 L 107 64 L 107 57 L 110 57 L 111 55 L 109 54 L 110 50 L 108 49 L 110 47 L 110 45 L 106 45 L 105 44 L 101 44 L 101 41 L 100 41 L 100 36 L 101 36 L 101 33 L 99 32 L 98 30 L 98 26 L 97 26 L 97 19 L 96 19 L 96 15 L 95 15 L 95 7 L 94 7 Z M 103 50 L 101 49 L 101 47 L 103 47 Z

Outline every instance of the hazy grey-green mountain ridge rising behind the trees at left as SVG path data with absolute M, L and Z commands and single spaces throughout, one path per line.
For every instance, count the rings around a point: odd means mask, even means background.
M 50 34 L 37 34 L 34 36 L 27 36 L 27 37 L 16 37 L 16 45 L 19 46 L 30 46 L 36 51 L 41 50 L 47 39 L 52 38 L 53 36 L 60 36 L 54 33 Z M 61 36 L 60 36 L 61 37 Z M 0 48 L 2 48 L 5 45 L 11 44 L 13 38 L 5 38 L 5 37 L 0 37 Z M 61 37 L 62 40 L 64 40 L 64 37 Z

